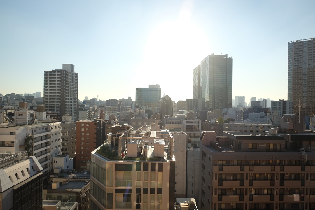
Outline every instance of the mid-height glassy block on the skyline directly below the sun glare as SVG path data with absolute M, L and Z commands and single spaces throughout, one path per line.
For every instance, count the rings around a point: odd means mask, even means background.
M 149 85 L 149 88 L 136 88 L 136 105 L 139 108 L 157 112 L 157 104 L 161 99 L 160 85 Z

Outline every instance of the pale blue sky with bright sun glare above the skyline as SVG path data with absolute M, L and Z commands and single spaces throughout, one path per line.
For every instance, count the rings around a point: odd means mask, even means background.
M 233 99 L 287 99 L 288 42 L 315 37 L 315 1 L 0 1 L 0 94 L 43 93 L 75 65 L 78 98 L 122 99 L 159 84 L 192 98 L 207 55 L 233 58 Z

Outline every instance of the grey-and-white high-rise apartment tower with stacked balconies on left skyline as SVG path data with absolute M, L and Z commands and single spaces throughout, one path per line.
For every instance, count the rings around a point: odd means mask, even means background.
M 44 104 L 46 111 L 72 116 L 77 121 L 78 73 L 74 65 L 63 64 L 62 69 L 44 71 Z

